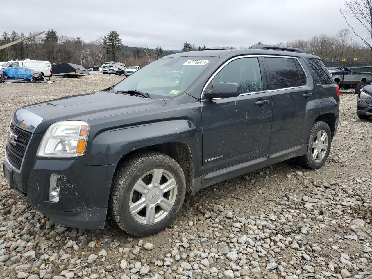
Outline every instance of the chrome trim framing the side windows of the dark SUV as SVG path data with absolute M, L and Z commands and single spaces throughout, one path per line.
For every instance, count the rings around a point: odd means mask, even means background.
M 244 96 L 244 95 L 248 95 L 248 94 L 254 94 L 254 93 L 264 93 L 264 92 L 272 92 L 272 91 L 278 91 L 278 90 L 285 90 L 285 89 L 294 89 L 294 88 L 302 88 L 302 87 L 307 87 L 308 84 L 309 84 L 309 78 L 307 76 L 307 73 L 304 69 L 304 66 L 302 66 L 302 63 L 301 61 L 299 61 L 298 57 L 295 57 L 295 56 L 286 56 L 286 55 L 255 55 L 255 54 L 252 54 L 252 55 L 240 55 L 240 56 L 236 56 L 236 57 L 232 57 L 230 58 L 229 60 L 227 60 L 224 64 L 222 64 L 221 66 L 219 66 L 219 68 L 212 74 L 211 77 L 208 78 L 207 82 L 204 84 L 203 86 L 203 90 L 202 90 L 202 94 L 201 94 L 201 101 L 205 101 L 205 100 L 216 100 L 216 99 L 222 99 L 222 98 L 213 98 L 213 99 L 203 99 L 203 96 L 204 96 L 204 92 L 205 92 L 205 89 L 206 87 L 208 86 L 208 84 L 212 81 L 212 79 L 217 76 L 217 74 L 227 65 L 229 64 L 231 61 L 234 61 L 234 60 L 237 60 L 237 59 L 240 59 L 240 58 L 247 58 L 247 57 L 279 57 L 279 58 L 292 58 L 292 59 L 297 59 L 297 61 L 299 62 L 299 64 L 301 65 L 301 68 L 302 70 L 304 71 L 305 73 L 305 76 L 306 76 L 306 85 L 302 85 L 302 86 L 296 86 L 296 87 L 286 87 L 286 88 L 280 88 L 280 89 L 274 89 L 274 90 L 265 90 L 265 91 L 256 91 L 256 92 L 248 92 L 248 93 L 243 93 L 243 94 L 240 94 L 239 96 Z M 266 72 L 266 69 L 265 69 L 265 72 Z M 262 77 L 261 77 L 262 79 Z

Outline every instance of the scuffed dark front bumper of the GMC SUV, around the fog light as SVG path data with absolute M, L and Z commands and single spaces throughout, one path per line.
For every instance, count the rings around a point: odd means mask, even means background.
M 103 228 L 116 164 L 86 166 L 84 156 L 65 159 L 35 157 L 37 147 L 34 145 L 42 135 L 33 136 L 20 170 L 8 160 L 3 162 L 4 176 L 10 188 L 57 223 L 74 228 Z M 51 174 L 61 177 L 58 202 L 49 201 Z

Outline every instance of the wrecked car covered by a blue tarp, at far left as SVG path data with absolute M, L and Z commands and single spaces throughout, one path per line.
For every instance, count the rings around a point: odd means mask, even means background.
M 40 72 L 29 68 L 5 68 L 0 70 L 0 82 L 35 82 L 44 81 Z

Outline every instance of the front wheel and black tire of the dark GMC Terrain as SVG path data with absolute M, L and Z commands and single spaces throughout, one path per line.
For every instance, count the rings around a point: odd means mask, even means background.
M 160 173 L 160 178 L 155 179 Z M 153 181 L 162 183 L 155 183 L 154 187 Z M 162 185 L 172 188 L 162 193 Z M 182 207 L 185 193 L 185 174 L 175 160 L 161 153 L 140 153 L 115 171 L 109 201 L 111 217 L 128 234 L 154 234 L 173 221 Z

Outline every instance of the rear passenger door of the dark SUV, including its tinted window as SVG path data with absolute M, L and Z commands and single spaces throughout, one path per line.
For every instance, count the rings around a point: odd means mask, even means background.
M 312 83 L 308 86 L 306 72 L 297 57 L 267 56 L 264 59 L 273 99 L 270 154 L 285 150 L 293 154 L 291 148 L 303 144 L 305 111 L 308 103 L 317 98 L 316 91 Z M 286 152 L 283 155 L 286 156 Z

